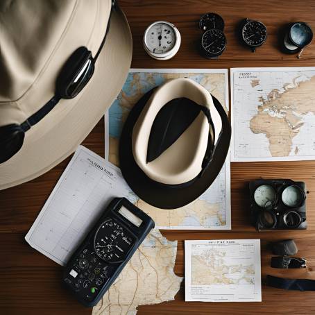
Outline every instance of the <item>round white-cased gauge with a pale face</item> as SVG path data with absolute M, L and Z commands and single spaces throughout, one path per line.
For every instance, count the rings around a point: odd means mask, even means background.
M 169 22 L 157 21 L 146 28 L 143 44 L 148 56 L 157 60 L 168 60 L 180 48 L 180 32 Z

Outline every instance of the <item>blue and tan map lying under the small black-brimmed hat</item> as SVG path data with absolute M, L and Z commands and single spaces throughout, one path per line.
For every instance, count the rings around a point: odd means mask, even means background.
M 105 114 L 105 159 L 119 167 L 119 137 L 130 109 L 153 87 L 179 77 L 188 77 L 203 85 L 228 112 L 227 69 L 131 69 L 121 93 Z M 128 198 L 151 216 L 158 228 L 230 229 L 230 160 L 225 162 L 210 188 L 185 207 L 158 209 L 137 198 L 132 191 Z

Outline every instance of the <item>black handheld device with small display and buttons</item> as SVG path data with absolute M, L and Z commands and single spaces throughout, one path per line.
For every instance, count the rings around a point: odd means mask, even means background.
M 62 282 L 87 307 L 96 305 L 154 228 L 126 198 L 114 198 L 65 266 Z

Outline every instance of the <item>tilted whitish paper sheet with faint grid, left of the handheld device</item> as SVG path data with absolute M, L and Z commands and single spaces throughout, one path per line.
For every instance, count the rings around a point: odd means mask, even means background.
M 79 146 L 25 239 L 65 265 L 112 198 L 129 198 L 129 191 L 119 170 Z

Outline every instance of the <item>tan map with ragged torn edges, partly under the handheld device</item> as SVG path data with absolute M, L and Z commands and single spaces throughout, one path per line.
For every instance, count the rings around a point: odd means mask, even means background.
M 138 305 L 173 300 L 182 282 L 173 271 L 176 251 L 177 241 L 152 230 L 92 315 L 135 315 Z

